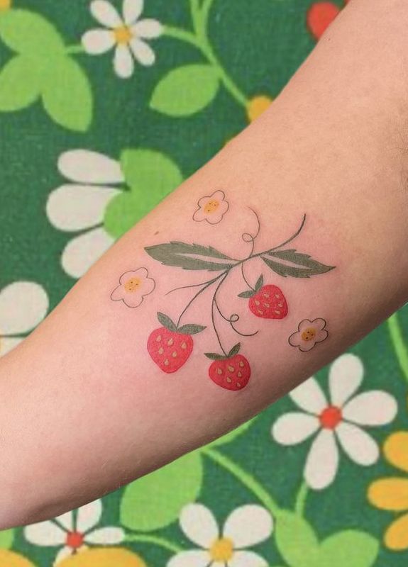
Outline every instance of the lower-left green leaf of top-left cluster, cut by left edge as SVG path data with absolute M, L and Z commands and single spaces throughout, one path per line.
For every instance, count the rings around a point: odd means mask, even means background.
M 0 72 L 0 111 L 26 108 L 40 96 L 40 81 L 35 60 L 17 55 Z

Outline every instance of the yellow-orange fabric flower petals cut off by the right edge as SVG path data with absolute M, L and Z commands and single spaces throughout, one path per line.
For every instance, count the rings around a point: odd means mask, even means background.
M 393 433 L 384 444 L 387 461 L 408 474 L 408 431 Z M 368 500 L 374 506 L 390 512 L 404 512 L 385 532 L 384 541 L 389 549 L 408 549 L 408 476 L 380 478 L 368 489 Z

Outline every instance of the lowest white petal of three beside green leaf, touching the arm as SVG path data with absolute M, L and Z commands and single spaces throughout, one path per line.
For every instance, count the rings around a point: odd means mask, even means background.
M 113 243 L 104 228 L 85 232 L 68 242 L 62 252 L 62 267 L 73 278 L 80 278 Z

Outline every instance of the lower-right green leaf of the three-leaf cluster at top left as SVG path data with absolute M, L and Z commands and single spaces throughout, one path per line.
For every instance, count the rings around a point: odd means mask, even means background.
M 69 130 L 84 132 L 92 121 L 93 96 L 87 75 L 70 57 L 47 61 L 41 79 L 45 111 Z

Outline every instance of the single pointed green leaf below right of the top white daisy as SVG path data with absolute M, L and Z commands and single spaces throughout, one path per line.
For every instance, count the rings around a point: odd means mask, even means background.
M 153 92 L 150 108 L 167 116 L 189 116 L 214 100 L 219 76 L 209 64 L 189 64 L 173 69 Z

